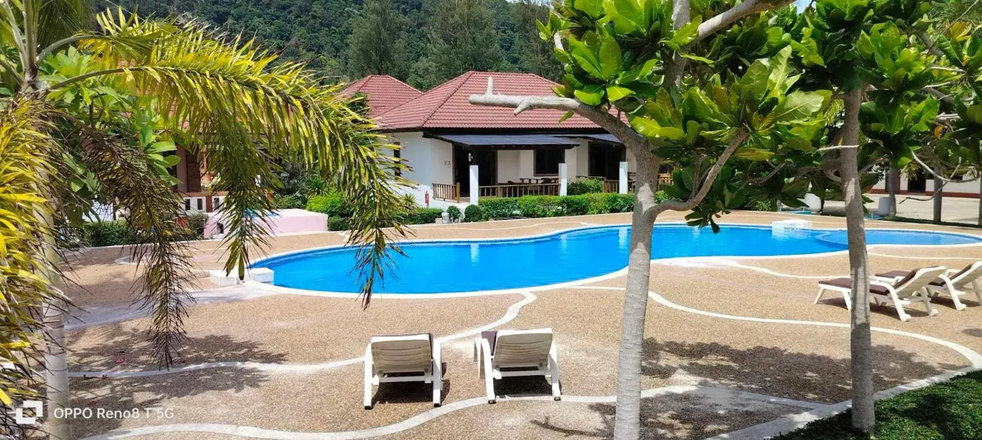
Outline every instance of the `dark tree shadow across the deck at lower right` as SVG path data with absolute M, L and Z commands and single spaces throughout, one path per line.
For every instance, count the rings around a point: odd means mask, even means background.
M 831 358 L 777 347 L 737 349 L 724 344 L 644 342 L 641 373 L 668 378 L 677 373 L 705 378 L 704 386 L 727 388 L 794 400 L 838 403 L 849 399 L 849 360 Z M 874 382 L 877 389 L 939 374 L 963 365 L 931 364 L 915 359 L 916 354 L 890 346 L 874 346 Z M 571 391 L 574 393 L 574 391 Z M 740 406 L 717 402 L 699 394 L 668 394 L 646 398 L 641 403 L 642 439 L 696 440 L 769 421 L 782 412 L 806 409 L 760 405 Z M 756 407 L 754 407 L 756 405 Z M 560 417 L 545 417 L 530 423 L 570 438 L 611 438 L 614 404 L 592 404 L 588 409 L 600 416 L 593 428 Z

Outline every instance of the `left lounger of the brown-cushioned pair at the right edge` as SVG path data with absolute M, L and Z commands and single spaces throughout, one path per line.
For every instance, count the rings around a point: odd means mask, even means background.
M 879 277 L 869 281 L 869 295 L 879 305 L 892 303 L 897 308 L 897 314 L 901 321 L 910 319 L 910 315 L 903 310 L 904 305 L 910 302 L 923 302 L 924 308 L 929 315 L 938 314 L 938 310 L 931 307 L 931 299 L 927 293 L 927 285 L 934 281 L 938 276 L 948 270 L 944 266 L 924 267 L 907 272 L 901 277 Z M 846 300 L 846 307 L 851 308 L 850 300 L 852 294 L 852 280 L 848 278 L 837 278 L 818 282 L 818 296 L 815 303 L 818 303 L 826 291 L 834 291 L 843 294 Z

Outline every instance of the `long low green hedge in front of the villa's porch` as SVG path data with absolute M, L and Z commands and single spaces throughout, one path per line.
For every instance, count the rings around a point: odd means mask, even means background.
M 561 215 L 607 214 L 634 209 L 634 195 L 591 192 L 577 195 L 524 195 L 485 197 L 477 202 L 485 218 L 557 217 Z

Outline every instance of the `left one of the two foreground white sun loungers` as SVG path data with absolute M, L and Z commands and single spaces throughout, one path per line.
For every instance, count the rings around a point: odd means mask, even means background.
M 372 408 L 372 385 L 386 382 L 432 383 L 433 406 L 440 406 L 443 366 L 440 343 L 433 335 L 373 336 L 364 359 L 365 410 Z

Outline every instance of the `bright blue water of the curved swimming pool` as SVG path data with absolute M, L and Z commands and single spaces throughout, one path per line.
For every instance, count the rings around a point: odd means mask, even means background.
M 579 229 L 534 239 L 431 242 L 403 245 L 395 269 L 375 292 L 428 294 L 515 289 L 580 280 L 627 266 L 627 226 Z M 870 245 L 964 245 L 972 236 L 869 230 Z M 652 258 L 675 256 L 798 255 L 846 249 L 846 231 L 724 226 L 719 234 L 685 225 L 658 225 Z M 358 292 L 355 250 L 336 247 L 267 258 L 253 264 L 275 273 L 277 286 L 324 292 Z

